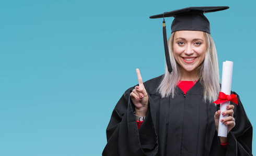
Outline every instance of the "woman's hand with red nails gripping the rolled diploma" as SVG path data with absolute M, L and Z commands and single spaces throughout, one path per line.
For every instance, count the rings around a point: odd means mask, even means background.
M 218 127 L 219 127 L 219 116 L 220 115 L 227 115 L 228 114 L 228 117 L 227 118 L 224 118 L 222 119 L 220 122 L 224 123 L 225 125 L 228 125 L 228 130 L 227 130 L 227 134 L 229 133 L 229 131 L 235 127 L 236 125 L 236 122 L 235 122 L 235 118 L 233 117 L 233 114 L 234 114 L 234 105 L 228 105 L 227 107 L 227 110 L 222 112 L 222 114 L 220 114 L 220 110 L 216 111 L 215 115 L 214 115 L 214 119 L 215 119 L 215 126 L 216 126 L 216 130 L 218 132 Z M 223 138 L 223 137 L 222 137 Z M 226 143 L 227 140 L 223 139 L 223 141 L 225 142 L 222 142 L 222 140 L 220 140 L 221 143 Z

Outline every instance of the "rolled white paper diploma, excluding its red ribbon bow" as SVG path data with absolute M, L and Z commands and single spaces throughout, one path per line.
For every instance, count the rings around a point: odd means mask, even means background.
M 225 93 L 226 95 L 230 95 L 230 92 L 231 92 L 232 71 L 233 71 L 233 62 L 231 61 L 223 62 L 221 92 Z M 226 106 L 228 105 L 229 105 L 229 101 L 220 103 L 221 113 L 227 110 Z M 227 137 L 227 125 L 220 122 L 220 120 L 227 118 L 228 114 L 223 116 L 221 113 L 219 116 L 218 136 Z

